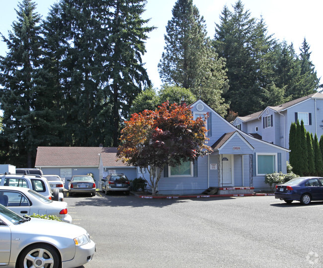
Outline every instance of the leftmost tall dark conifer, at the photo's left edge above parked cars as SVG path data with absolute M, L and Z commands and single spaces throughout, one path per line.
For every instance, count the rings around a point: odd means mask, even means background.
M 36 4 L 22 0 L 16 9 L 8 38 L 2 35 L 8 52 L 0 58 L 0 109 L 3 111 L 1 150 L 3 162 L 17 166 L 33 166 L 38 145 L 45 145 L 46 122 L 51 111 L 44 110 L 42 98 L 47 98 L 40 84 L 41 45 L 40 15 Z M 47 102 L 48 100 L 46 100 Z M 45 131 L 45 133 L 44 133 Z

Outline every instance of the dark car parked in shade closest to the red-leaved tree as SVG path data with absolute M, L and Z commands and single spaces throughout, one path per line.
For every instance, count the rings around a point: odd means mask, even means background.
M 124 174 L 110 174 L 102 179 L 102 192 L 107 195 L 112 191 L 122 191 L 126 195 L 130 193 L 130 181 Z

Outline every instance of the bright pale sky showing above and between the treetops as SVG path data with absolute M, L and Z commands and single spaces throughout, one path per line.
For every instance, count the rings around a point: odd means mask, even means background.
M 0 32 L 7 37 L 8 30 L 12 29 L 12 22 L 16 21 L 18 0 L 0 0 Z M 44 18 L 50 6 L 56 0 L 34 0 L 37 3 L 36 11 Z M 158 63 L 164 48 L 164 34 L 167 21 L 172 18 L 171 10 L 176 0 L 148 0 L 143 18 L 151 20 L 148 26 L 157 29 L 148 34 L 146 42 L 147 52 L 143 56 L 143 62 L 147 68 L 150 79 L 155 88 L 160 88 L 161 79 L 158 72 Z M 219 16 L 223 7 L 227 5 L 230 10 L 236 0 L 193 0 L 206 21 L 208 36 L 213 39 L 215 23 L 219 23 Z M 323 53 L 322 49 L 322 0 L 242 0 L 244 9 L 249 10 L 252 17 L 263 17 L 267 24 L 268 33 L 273 37 L 288 44 L 293 43 L 297 54 L 304 37 L 310 45 L 311 60 L 315 65 L 318 77 L 323 76 Z M 5 56 L 7 51 L 4 42 L 0 41 L 0 55 Z M 323 83 L 323 78 L 321 78 Z

